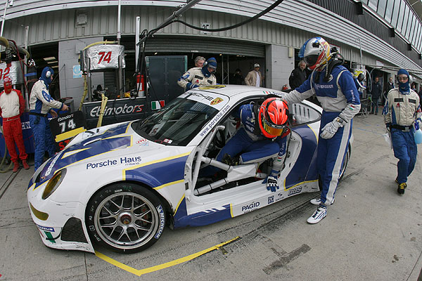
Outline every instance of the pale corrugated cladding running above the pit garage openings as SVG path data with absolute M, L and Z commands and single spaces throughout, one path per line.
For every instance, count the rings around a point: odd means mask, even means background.
M 110 36 L 117 33 L 117 3 L 117 0 L 15 0 L 13 7 L 7 10 L 4 36 L 13 38 L 22 45 L 25 25 L 30 26 L 30 44 Z M 186 1 L 122 1 L 122 35 L 134 34 L 136 15 L 141 16 L 141 30 L 144 28 L 151 30 L 176 11 L 177 6 L 184 3 Z M 245 16 L 250 17 L 259 13 L 273 3 L 272 0 L 203 0 L 187 11 L 181 20 L 196 26 L 200 26 L 200 22 L 209 22 L 212 28 L 226 27 L 245 20 Z M 75 28 L 75 9 L 78 11 L 84 9 L 87 12 L 89 22 L 86 26 Z M 304 15 L 307 15 L 306 19 Z M 204 36 L 200 31 L 179 23 L 173 23 L 157 34 Z M 285 0 L 260 20 L 238 27 L 236 30 L 212 32 L 205 36 L 299 48 L 307 38 L 316 34 L 326 37 L 328 41 L 335 40 L 343 44 L 342 52 L 345 53 L 345 58 L 354 61 L 359 61 L 356 60 L 357 54 L 359 55 L 356 34 L 359 34 L 365 61 L 368 62 L 364 64 L 371 64 L 369 63 L 372 61 L 371 56 L 376 56 L 385 63 L 422 70 L 421 66 L 382 39 L 305 0 Z

